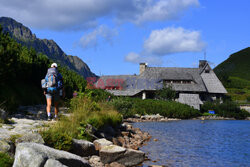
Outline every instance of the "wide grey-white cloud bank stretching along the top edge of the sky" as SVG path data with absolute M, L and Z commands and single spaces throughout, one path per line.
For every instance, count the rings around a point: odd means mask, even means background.
M 141 24 L 178 18 L 198 6 L 198 0 L 0 0 L 0 16 L 33 28 L 82 29 L 97 26 L 98 19 Z

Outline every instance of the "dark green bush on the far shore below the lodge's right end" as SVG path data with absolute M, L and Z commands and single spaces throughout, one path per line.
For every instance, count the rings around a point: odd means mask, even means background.
M 230 100 L 224 103 L 220 103 L 219 101 L 206 102 L 202 105 L 201 112 L 205 113 L 208 110 L 214 110 L 218 116 L 235 119 L 245 119 L 250 116 L 247 111 L 241 110 L 235 102 Z

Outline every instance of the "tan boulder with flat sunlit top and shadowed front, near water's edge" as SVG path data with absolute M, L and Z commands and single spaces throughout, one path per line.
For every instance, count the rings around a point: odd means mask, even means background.
M 120 159 L 126 149 L 117 145 L 109 145 L 101 148 L 99 155 L 104 164 L 115 162 Z

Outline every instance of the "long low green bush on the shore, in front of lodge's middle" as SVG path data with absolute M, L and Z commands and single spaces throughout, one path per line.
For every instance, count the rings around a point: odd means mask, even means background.
M 111 104 L 125 118 L 135 114 L 160 114 L 164 117 L 188 119 L 200 115 L 198 110 L 175 101 L 142 100 L 139 98 L 119 98 L 112 100 Z

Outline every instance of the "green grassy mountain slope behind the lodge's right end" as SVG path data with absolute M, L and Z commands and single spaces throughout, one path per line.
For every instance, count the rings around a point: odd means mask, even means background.
M 250 47 L 232 54 L 214 71 L 233 100 L 245 101 L 250 97 Z

